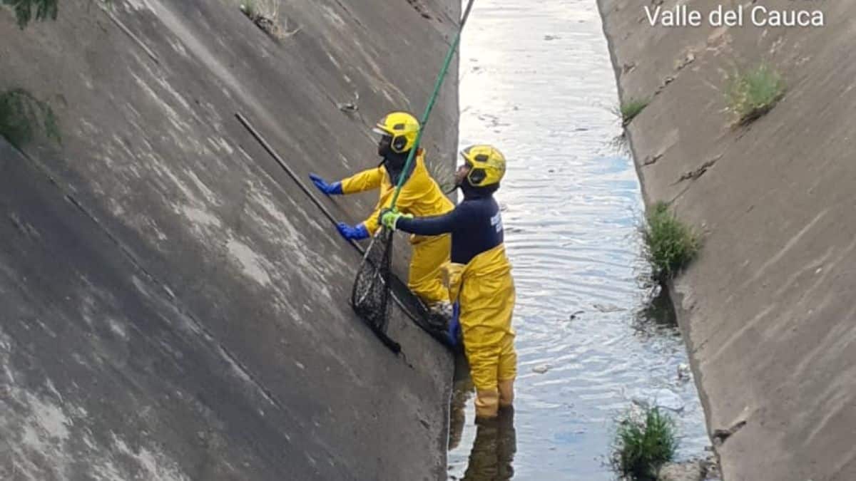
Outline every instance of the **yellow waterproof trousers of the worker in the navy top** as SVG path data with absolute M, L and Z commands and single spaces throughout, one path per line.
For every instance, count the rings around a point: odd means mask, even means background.
M 474 257 L 468 264 L 447 264 L 449 299 L 460 301 L 461 331 L 470 374 L 477 389 L 479 403 L 502 396 L 502 384 L 510 389 L 517 376 L 517 353 L 514 352 L 514 279 L 505 246 L 499 245 Z M 510 391 L 509 391 L 510 392 Z M 492 393 L 492 394 L 491 394 Z M 513 395 L 506 395 L 508 404 Z M 499 400 L 502 401 L 502 400 Z M 496 413 L 496 407 L 492 407 Z M 490 410 L 490 408 L 489 408 Z

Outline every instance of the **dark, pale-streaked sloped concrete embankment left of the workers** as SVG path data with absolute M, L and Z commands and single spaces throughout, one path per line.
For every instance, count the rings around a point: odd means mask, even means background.
M 0 478 L 444 478 L 449 354 L 354 317 L 359 254 L 235 113 L 301 176 L 375 165 L 368 128 L 423 109 L 457 3 L 283 1 L 278 42 L 236 1 L 114 4 L 23 31 L 0 9 L 0 89 L 63 138 L 0 144 Z M 434 115 L 451 163 L 454 80 Z

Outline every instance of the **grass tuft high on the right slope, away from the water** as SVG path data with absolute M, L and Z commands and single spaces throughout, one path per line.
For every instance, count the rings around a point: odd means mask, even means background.
M 756 68 L 729 75 L 725 98 L 738 125 L 746 125 L 775 107 L 785 90 L 782 75 L 761 63 Z

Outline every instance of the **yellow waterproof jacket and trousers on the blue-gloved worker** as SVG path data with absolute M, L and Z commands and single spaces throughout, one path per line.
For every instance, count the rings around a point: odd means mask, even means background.
M 437 182 L 428 174 L 425 168 L 425 151 L 419 149 L 416 154 L 416 165 L 413 173 L 401 186 L 401 194 L 398 196 L 398 210 L 414 217 L 433 217 L 443 215 L 455 208 L 455 205 L 437 185 Z M 392 203 L 395 195 L 395 185 L 389 179 L 389 174 L 383 166 L 375 169 L 367 169 L 359 174 L 352 175 L 342 180 L 342 193 L 360 193 L 367 190 L 380 188 L 372 215 L 363 223 L 369 234 L 374 235 L 380 225 L 377 217 L 385 208 Z M 411 235 L 410 243 L 413 245 L 413 256 L 410 259 L 410 271 L 408 273 L 407 286 L 414 294 L 426 304 L 440 301 L 448 301 L 449 293 L 443 287 L 443 264 L 449 262 L 451 251 L 451 236 L 438 235 L 425 237 L 422 235 Z

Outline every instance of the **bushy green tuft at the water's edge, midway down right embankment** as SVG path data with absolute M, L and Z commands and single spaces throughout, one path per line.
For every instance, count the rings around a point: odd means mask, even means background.
M 648 261 L 654 278 L 663 282 L 675 276 L 698 254 L 701 241 L 686 224 L 669 211 L 669 205 L 658 202 L 647 214 L 643 229 Z

